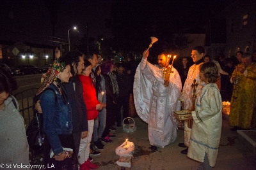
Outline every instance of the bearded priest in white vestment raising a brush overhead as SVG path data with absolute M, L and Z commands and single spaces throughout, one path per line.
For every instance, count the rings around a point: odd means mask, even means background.
M 178 120 L 173 111 L 177 110 L 181 80 L 178 71 L 172 67 L 169 85 L 165 87 L 163 69 L 170 67 L 167 55 L 158 55 L 158 66 L 147 62 L 147 57 L 146 50 L 134 76 L 134 104 L 140 118 L 148 123 L 151 150 L 157 150 L 177 138 Z

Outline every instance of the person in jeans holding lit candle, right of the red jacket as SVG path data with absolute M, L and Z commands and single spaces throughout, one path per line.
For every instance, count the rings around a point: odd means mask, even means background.
M 102 133 L 106 127 L 106 87 L 105 87 L 105 79 L 101 73 L 101 66 L 97 64 L 96 67 L 93 67 L 96 78 L 96 88 L 98 88 L 98 101 L 102 103 L 102 110 L 99 110 L 99 116 L 94 119 L 94 126 L 93 126 L 93 141 L 94 145 L 99 150 L 104 150 L 104 145 L 101 142 Z

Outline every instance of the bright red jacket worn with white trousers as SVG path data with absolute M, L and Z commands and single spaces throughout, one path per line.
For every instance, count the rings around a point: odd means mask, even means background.
M 96 105 L 100 104 L 100 102 L 96 97 L 96 90 L 93 86 L 92 78 L 80 75 L 79 79 L 83 84 L 83 96 L 87 110 L 87 119 L 93 120 L 99 115 L 99 111 L 96 110 Z

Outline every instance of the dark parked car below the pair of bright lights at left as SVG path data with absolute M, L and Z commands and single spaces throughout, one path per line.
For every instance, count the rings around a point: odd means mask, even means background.
M 25 75 L 25 74 L 37 74 L 39 73 L 38 67 L 32 65 L 20 65 L 12 70 L 13 74 Z

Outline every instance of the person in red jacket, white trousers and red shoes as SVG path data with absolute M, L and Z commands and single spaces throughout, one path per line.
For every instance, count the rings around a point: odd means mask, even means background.
M 102 104 L 100 104 L 96 97 L 96 90 L 93 87 L 92 78 L 89 76 L 90 73 L 92 73 L 91 63 L 88 60 L 84 60 L 84 69 L 79 79 L 83 84 L 83 96 L 88 119 L 88 136 L 80 141 L 78 153 L 79 163 L 81 164 L 80 170 L 97 169 L 99 167 L 96 164 L 92 164 L 89 160 L 94 119 L 98 117 L 99 110 L 102 110 Z

